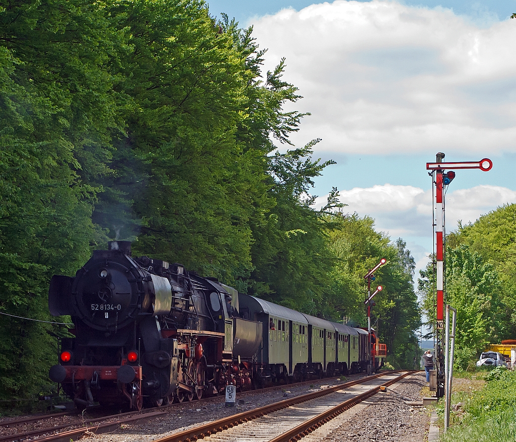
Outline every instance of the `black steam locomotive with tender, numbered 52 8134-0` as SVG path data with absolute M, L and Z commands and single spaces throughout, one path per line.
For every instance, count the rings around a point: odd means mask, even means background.
M 140 410 L 229 383 L 251 387 L 262 324 L 239 317 L 238 292 L 180 264 L 133 257 L 128 241 L 95 250 L 75 277 L 54 275 L 49 307 L 75 325 L 49 374 L 79 407 Z

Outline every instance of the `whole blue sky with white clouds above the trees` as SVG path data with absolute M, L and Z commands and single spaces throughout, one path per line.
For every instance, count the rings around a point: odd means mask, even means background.
M 286 59 L 284 79 L 310 112 L 291 137 L 314 138 L 333 159 L 313 194 L 332 186 L 344 210 L 407 241 L 423 268 L 432 252 L 426 162 L 491 158 L 493 168 L 457 171 L 446 194 L 446 230 L 516 203 L 516 0 L 482 2 L 212 0 L 253 26 L 265 70 Z M 285 146 L 282 146 L 285 149 Z

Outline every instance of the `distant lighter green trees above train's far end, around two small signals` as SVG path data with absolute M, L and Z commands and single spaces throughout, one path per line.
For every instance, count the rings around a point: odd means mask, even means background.
M 413 358 L 418 357 L 414 330 L 421 325 L 421 312 L 412 284 L 414 260 L 406 243 L 401 239 L 391 243 L 374 230 L 374 220 L 369 217 L 337 213 L 326 221 L 332 223 L 330 248 L 338 260 L 330 278 L 333 294 L 326 297 L 327 308 L 349 316 L 355 324 L 367 325 L 363 276 L 386 258 L 387 264 L 375 272 L 371 288 L 385 287 L 374 298 L 372 325 L 388 346 L 389 361 L 396 367 L 412 367 Z

